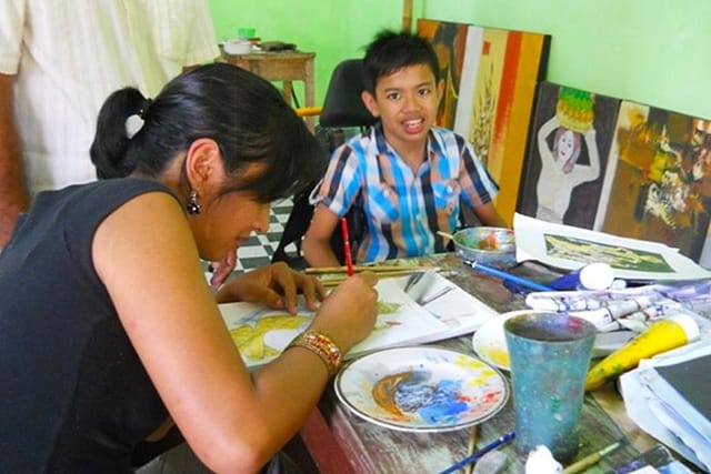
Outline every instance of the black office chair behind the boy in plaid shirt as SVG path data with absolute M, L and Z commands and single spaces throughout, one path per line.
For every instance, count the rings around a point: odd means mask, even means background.
M 362 60 L 347 59 L 341 61 L 331 73 L 316 132 L 329 155 L 346 141 L 344 128 L 358 128 L 360 131 L 364 131 L 375 123 L 375 118 L 360 98 L 363 90 Z M 309 195 L 317 184 L 318 182 L 311 183 L 306 190 L 293 196 L 293 209 L 284 225 L 279 246 L 272 255 L 272 262 L 287 262 L 289 266 L 297 270 L 302 270 L 308 265 L 301 254 L 301 239 L 309 229 L 313 216 L 313 205 L 309 203 Z M 356 250 L 365 230 L 364 216 L 360 208 L 353 205 L 346 218 L 350 230 L 351 249 Z M 289 255 L 286 251 L 286 248 L 291 243 L 297 248 L 294 255 Z M 331 249 L 340 263 L 343 264 L 343 240 L 340 228 L 331 235 Z

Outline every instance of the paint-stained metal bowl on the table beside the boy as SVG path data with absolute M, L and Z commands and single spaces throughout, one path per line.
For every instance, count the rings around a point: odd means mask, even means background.
M 460 259 L 505 269 L 515 264 L 515 240 L 507 228 L 467 228 L 453 235 Z

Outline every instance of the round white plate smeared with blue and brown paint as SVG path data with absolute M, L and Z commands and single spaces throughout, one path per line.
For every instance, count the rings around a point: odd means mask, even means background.
M 351 361 L 336 394 L 356 415 L 392 430 L 444 432 L 480 423 L 509 399 L 501 373 L 447 349 L 397 347 Z

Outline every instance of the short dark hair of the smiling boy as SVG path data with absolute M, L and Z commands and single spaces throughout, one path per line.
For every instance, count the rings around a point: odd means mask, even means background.
M 432 43 L 418 34 L 405 31 L 382 30 L 368 44 L 363 58 L 365 90 L 373 95 L 378 80 L 408 65 L 425 64 L 440 80 L 440 65 Z

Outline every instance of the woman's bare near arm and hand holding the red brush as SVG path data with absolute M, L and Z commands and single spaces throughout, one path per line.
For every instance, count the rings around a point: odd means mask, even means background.
M 140 195 L 109 215 L 92 254 L 131 343 L 198 456 L 217 472 L 259 470 L 320 399 L 328 381 L 322 360 L 296 347 L 248 372 L 206 283 L 184 213 L 167 194 Z M 374 280 L 349 279 L 312 323 L 343 353 L 372 329 Z

